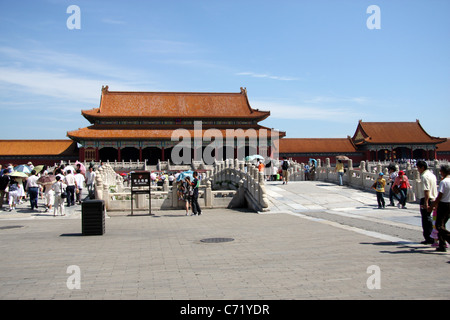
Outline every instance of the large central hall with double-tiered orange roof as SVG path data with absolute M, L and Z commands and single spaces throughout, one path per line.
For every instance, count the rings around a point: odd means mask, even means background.
M 181 155 L 189 161 L 203 155 L 194 152 L 195 147 L 204 152 L 212 143 L 208 151 L 218 160 L 226 155 L 270 155 L 274 137 L 285 136 L 258 124 L 270 112 L 253 109 L 245 88 L 239 93 L 113 92 L 106 86 L 100 106 L 81 114 L 91 125 L 67 133 L 81 145 L 80 161 L 155 164 L 173 160 L 173 148 L 181 141 L 188 141 L 191 154 L 184 154 L 185 149 Z

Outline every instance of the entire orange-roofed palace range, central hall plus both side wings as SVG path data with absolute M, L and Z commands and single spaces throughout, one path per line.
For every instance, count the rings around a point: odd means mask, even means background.
M 66 140 L 0 140 L 0 164 L 63 161 L 172 161 L 240 158 L 261 154 L 298 162 L 335 159 L 354 163 L 401 159 L 450 160 L 450 141 L 430 136 L 415 122 L 359 121 L 352 137 L 286 138 L 259 122 L 247 90 L 236 93 L 117 92 L 102 87 L 98 108 L 82 110 L 90 126 Z M 176 149 L 179 145 L 187 148 Z M 175 162 L 177 163 L 177 162 Z M 332 163 L 334 161 L 332 160 Z

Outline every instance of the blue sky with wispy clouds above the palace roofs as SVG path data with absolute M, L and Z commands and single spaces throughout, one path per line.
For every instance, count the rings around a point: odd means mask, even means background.
M 360 119 L 450 137 L 449 14 L 448 0 L 0 0 L 0 139 L 66 138 L 102 85 L 246 87 L 291 138 L 352 136 Z

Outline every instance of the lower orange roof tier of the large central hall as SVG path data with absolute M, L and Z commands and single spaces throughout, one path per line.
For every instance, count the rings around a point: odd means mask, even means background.
M 142 139 L 148 139 L 148 140 L 170 140 L 172 137 L 172 134 L 174 130 L 177 128 L 170 128 L 170 129 L 161 129 L 161 126 L 158 128 L 156 127 L 148 127 L 148 126 L 111 126 L 111 125 L 92 125 L 86 128 L 81 128 L 75 131 L 70 131 L 67 133 L 67 136 L 71 139 L 80 141 L 80 140 L 116 140 L 116 139 L 122 139 L 122 140 L 142 140 Z M 183 129 L 183 128 L 178 128 Z M 246 130 L 248 128 L 243 128 L 243 134 L 245 135 Z M 256 128 L 253 128 L 256 131 L 256 134 L 259 134 L 259 130 L 266 129 L 267 135 L 270 138 L 270 129 L 257 126 Z M 194 138 L 194 130 L 193 129 L 185 129 L 189 132 L 190 136 Z M 202 130 L 202 135 L 205 134 L 206 128 Z M 222 136 L 225 138 L 227 134 L 227 129 L 217 129 L 221 132 Z M 180 131 L 181 132 L 181 131 Z M 238 136 L 244 136 L 240 135 L 238 131 Z M 252 131 L 248 131 L 247 133 L 252 133 Z M 213 132 L 211 131 L 211 134 Z M 279 136 L 284 136 L 284 132 L 280 132 Z

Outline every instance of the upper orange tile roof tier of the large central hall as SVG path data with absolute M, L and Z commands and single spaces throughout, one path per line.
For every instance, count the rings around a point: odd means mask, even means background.
M 252 109 L 246 89 L 240 93 L 113 92 L 102 88 L 100 107 L 83 110 L 95 118 L 252 118 L 263 120 L 269 111 Z

